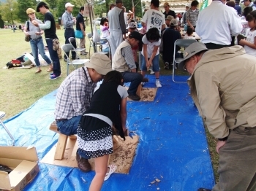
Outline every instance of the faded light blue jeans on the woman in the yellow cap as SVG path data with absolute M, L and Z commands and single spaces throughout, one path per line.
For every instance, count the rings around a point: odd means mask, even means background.
M 42 38 L 40 39 L 31 39 L 30 40 L 30 46 L 31 46 L 31 50 L 34 56 L 34 62 L 36 63 L 37 67 L 40 66 L 40 62 L 38 59 L 38 50 L 40 55 L 42 56 L 42 58 L 48 63 L 50 64 L 50 58 L 48 58 L 47 55 L 45 55 L 45 46 L 44 43 L 42 42 Z

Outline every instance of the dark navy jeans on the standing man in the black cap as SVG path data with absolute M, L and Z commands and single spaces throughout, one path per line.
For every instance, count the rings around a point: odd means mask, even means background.
M 45 39 L 50 53 L 50 59 L 53 61 L 53 74 L 59 76 L 61 74 L 61 63 L 57 51 L 53 50 L 53 39 Z

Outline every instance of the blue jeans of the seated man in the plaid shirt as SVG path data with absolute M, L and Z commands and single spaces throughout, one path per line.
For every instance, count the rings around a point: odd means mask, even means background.
M 81 115 L 71 118 L 70 120 L 62 120 L 56 122 L 59 132 L 64 135 L 70 136 L 77 133 L 78 124 L 81 119 Z

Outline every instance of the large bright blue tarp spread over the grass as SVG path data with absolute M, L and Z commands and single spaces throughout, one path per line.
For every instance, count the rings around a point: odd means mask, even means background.
M 155 87 L 154 76 L 145 87 Z M 186 81 L 187 77 L 177 77 Z M 203 122 L 185 83 L 160 77 L 162 87 L 153 102 L 128 101 L 127 127 L 140 136 L 129 174 L 112 174 L 102 190 L 211 189 L 214 174 Z M 34 146 L 39 160 L 56 144 L 58 134 L 50 131 L 54 120 L 56 90 L 40 98 L 26 111 L 5 121 L 16 146 Z M 0 145 L 11 141 L 0 128 Z M 94 171 L 60 167 L 39 162 L 39 174 L 25 190 L 89 190 Z M 151 184 L 154 179 L 161 182 Z

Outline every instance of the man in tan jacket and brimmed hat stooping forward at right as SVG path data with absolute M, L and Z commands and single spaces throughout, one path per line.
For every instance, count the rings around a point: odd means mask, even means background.
M 256 190 L 255 61 L 241 46 L 208 50 L 195 42 L 178 64 L 191 74 L 188 84 L 195 105 L 219 139 L 219 183 L 213 191 Z

